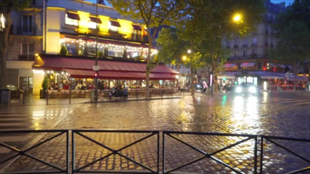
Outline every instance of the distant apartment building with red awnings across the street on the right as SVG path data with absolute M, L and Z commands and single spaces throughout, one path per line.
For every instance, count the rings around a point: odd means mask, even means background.
M 256 31 L 247 37 L 222 41 L 222 45 L 231 50 L 231 55 L 224 65 L 225 72 L 218 77 L 219 84 L 253 82 L 260 85 L 260 81 L 283 84 L 294 80 L 294 77 L 286 77 L 286 72 L 292 72 L 292 65 L 281 65 L 267 58 L 268 49 L 276 47 L 277 43 L 272 24 L 276 22 L 277 14 L 285 11 L 285 3 L 274 4 L 270 0 L 264 0 L 264 3 L 266 12 Z M 306 81 L 307 78 L 299 76 L 297 80 Z

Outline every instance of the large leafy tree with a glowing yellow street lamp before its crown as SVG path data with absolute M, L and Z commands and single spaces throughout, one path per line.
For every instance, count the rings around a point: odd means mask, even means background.
M 214 75 L 215 90 L 217 90 L 217 69 L 221 52 L 221 42 L 231 36 L 245 36 L 250 34 L 264 12 L 263 1 L 248 0 L 184 0 L 187 4 L 184 14 L 178 22 L 181 36 L 190 42 L 194 52 L 209 54 Z M 230 10 L 227 10 L 230 9 Z M 241 20 L 233 20 L 235 14 L 240 14 Z M 201 51 L 201 45 L 205 45 Z M 205 61 L 208 62 L 208 61 Z M 193 85 L 192 85 L 193 88 Z

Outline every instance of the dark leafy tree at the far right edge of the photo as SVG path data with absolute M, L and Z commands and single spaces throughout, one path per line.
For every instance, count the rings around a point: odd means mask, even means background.
M 277 16 L 273 27 L 277 31 L 277 44 L 269 57 L 280 63 L 293 64 L 295 77 L 299 63 L 310 56 L 310 1 L 295 1 Z M 294 79 L 294 90 L 296 78 Z

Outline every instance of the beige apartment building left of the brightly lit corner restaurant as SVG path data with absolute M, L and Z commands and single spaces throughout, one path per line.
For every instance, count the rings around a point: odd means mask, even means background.
M 32 93 L 32 64 L 42 51 L 43 2 L 34 0 L 23 11 L 13 11 L 6 57 L 8 84 Z

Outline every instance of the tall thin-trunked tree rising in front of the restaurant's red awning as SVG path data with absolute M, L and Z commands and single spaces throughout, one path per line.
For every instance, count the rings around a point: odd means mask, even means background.
M 151 70 L 152 41 L 160 25 L 171 25 L 177 19 L 179 0 L 108 0 L 122 15 L 138 21 L 146 26 L 148 38 L 148 54 L 146 60 L 146 95 L 149 97 L 149 73 Z M 151 33 L 154 28 L 153 33 Z

